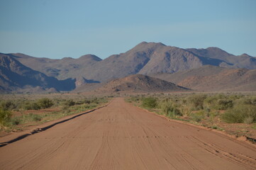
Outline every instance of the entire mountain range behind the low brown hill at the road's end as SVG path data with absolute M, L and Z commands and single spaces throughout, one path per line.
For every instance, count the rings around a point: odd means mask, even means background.
M 132 74 L 149 75 L 165 79 L 189 89 L 204 89 L 207 91 L 208 89 L 204 88 L 205 84 L 192 86 L 189 84 L 195 83 L 186 80 L 188 77 L 196 77 L 196 75 L 204 74 L 204 72 L 211 72 L 209 71 L 211 69 L 213 70 L 212 72 L 220 70 L 218 74 L 224 74 L 223 70 L 225 72 L 233 70 L 230 72 L 245 72 L 246 75 L 254 75 L 252 73 L 254 71 L 250 70 L 256 69 L 256 58 L 250 55 L 243 54 L 235 56 L 218 47 L 182 49 L 167 46 L 160 42 L 141 42 L 127 52 L 119 55 L 111 55 L 104 60 L 101 60 L 95 55 L 83 55 L 77 59 L 65 57 L 61 60 L 31 57 L 21 53 L 0 53 L 0 57 L 0 86 L 2 91 L 26 89 L 26 86 L 33 88 L 40 87 L 43 89 L 53 88 L 56 91 L 70 91 L 75 88 L 81 89 L 82 86 L 91 86 L 86 84 L 98 84 L 96 86 L 99 86 L 99 84 L 106 84 L 106 82 L 113 79 L 128 77 Z M 8 63 L 9 65 L 11 63 L 16 64 L 11 64 L 8 67 Z M 213 67 L 207 67 L 208 65 Z M 14 67 L 19 69 L 14 69 Z M 206 71 L 203 71 L 203 69 Z M 21 70 L 29 71 L 21 72 Z M 247 77 L 250 77 L 250 75 Z M 213 78 L 214 76 L 215 78 Z M 28 77 L 30 80 L 20 82 L 19 77 Z M 174 77 L 179 77 L 179 81 L 176 81 L 178 78 Z M 186 77 L 186 79 L 182 79 L 181 77 Z M 208 77 L 201 75 L 201 77 L 204 78 L 200 81 L 204 81 L 206 78 L 208 81 L 214 81 L 214 79 L 218 79 L 220 76 L 216 77 L 216 74 L 212 74 Z M 253 84 L 253 76 L 250 78 L 247 77 L 243 79 L 240 79 L 241 77 L 234 77 L 230 81 L 236 82 L 239 79 L 240 83 L 238 84 L 242 84 L 241 86 L 243 84 Z M 199 78 L 197 77 L 196 79 Z M 247 79 L 250 79 L 250 83 L 248 83 Z M 186 82 L 189 84 L 186 84 Z M 235 90 L 235 87 L 223 88 L 220 86 L 219 89 Z M 256 89 L 250 87 L 248 90 Z

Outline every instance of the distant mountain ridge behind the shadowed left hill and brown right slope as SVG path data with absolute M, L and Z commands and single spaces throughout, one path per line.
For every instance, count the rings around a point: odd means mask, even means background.
M 9 54 L 22 64 L 57 79 L 90 79 L 108 81 L 131 74 L 174 73 L 196 69 L 204 65 L 227 68 L 256 69 L 256 58 L 231 55 L 217 47 L 182 49 L 162 43 L 141 42 L 127 52 L 101 60 L 95 55 L 62 60 L 36 58 L 23 54 Z M 36 63 L 36 65 L 35 65 Z M 81 84 L 81 81 L 77 84 Z

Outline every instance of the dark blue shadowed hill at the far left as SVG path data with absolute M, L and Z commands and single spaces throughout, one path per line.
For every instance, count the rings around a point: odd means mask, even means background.
M 36 65 L 36 64 L 35 64 Z M 0 91 L 70 91 L 74 80 L 55 77 L 30 69 L 9 55 L 0 55 Z

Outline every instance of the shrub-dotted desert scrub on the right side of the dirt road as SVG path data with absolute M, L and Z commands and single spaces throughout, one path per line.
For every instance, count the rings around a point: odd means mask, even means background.
M 224 130 L 235 123 L 256 127 L 256 96 L 252 94 L 143 94 L 126 101 L 207 128 Z

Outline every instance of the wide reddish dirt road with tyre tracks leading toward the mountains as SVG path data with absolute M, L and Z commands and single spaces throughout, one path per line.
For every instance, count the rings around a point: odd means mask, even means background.
M 256 169 L 256 147 L 116 98 L 1 147 L 0 169 Z

